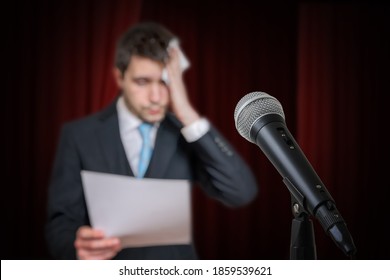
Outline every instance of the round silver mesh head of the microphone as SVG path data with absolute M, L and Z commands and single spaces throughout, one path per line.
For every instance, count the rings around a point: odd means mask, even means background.
M 255 91 L 240 99 L 234 110 L 234 123 L 238 133 L 249 142 L 253 124 L 261 117 L 269 114 L 280 115 L 284 119 L 284 112 L 280 102 L 268 93 Z

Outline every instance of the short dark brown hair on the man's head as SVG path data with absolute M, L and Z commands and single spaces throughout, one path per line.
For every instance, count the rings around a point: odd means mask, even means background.
M 133 55 L 165 63 L 169 41 L 174 37 L 171 31 L 155 22 L 142 22 L 131 26 L 117 42 L 115 66 L 123 74 Z

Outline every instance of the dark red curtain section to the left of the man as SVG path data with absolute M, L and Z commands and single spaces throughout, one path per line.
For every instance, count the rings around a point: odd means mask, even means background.
M 139 20 L 141 1 L 9 4 L 4 258 L 48 258 L 46 196 L 59 130 L 116 95 L 115 40 Z

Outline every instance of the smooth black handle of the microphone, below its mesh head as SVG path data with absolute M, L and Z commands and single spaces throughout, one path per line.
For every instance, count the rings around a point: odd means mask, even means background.
M 283 177 L 291 194 L 309 213 L 314 214 L 321 204 L 333 201 L 279 115 L 268 115 L 256 121 L 251 134 Z

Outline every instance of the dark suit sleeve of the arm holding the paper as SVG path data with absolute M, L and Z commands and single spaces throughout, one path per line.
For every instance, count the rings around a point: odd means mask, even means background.
M 46 240 L 55 259 L 75 259 L 77 229 L 88 223 L 81 183 L 81 163 L 68 126 L 64 126 L 49 185 Z

